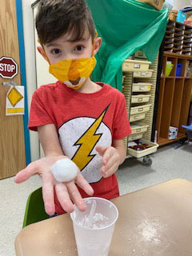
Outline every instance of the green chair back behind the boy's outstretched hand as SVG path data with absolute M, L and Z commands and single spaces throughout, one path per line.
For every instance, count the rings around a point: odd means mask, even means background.
M 30 193 L 27 199 L 22 228 L 32 223 L 40 222 L 46 218 L 49 218 L 49 215 L 46 214 L 44 208 L 42 187 L 40 187 L 38 190 L 34 190 L 32 193 Z

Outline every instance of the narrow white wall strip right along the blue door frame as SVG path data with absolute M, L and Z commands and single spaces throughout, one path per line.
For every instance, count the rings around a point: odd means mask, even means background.
M 34 0 L 22 0 L 22 18 L 24 30 L 24 42 L 26 52 L 26 85 L 28 110 L 30 111 L 30 102 L 34 90 L 36 90 L 36 68 L 35 68 L 35 51 L 34 51 L 34 26 L 33 12 L 31 4 Z M 38 133 L 30 131 L 30 152 L 31 161 L 39 158 Z

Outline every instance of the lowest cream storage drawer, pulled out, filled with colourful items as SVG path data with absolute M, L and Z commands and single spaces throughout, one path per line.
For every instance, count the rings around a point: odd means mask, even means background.
M 147 141 L 143 138 L 140 140 L 140 142 L 146 143 L 146 144 L 150 145 L 150 147 L 147 148 L 146 150 L 133 150 L 133 149 L 128 147 L 128 154 L 134 156 L 135 158 L 142 158 L 147 154 L 153 154 L 158 149 L 158 144 L 157 143 L 149 142 L 149 141 Z

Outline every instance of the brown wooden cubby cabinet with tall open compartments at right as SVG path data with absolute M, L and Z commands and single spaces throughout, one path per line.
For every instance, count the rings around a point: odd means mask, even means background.
M 168 77 L 165 76 L 167 61 L 174 64 Z M 186 130 L 182 128 L 182 125 L 187 124 L 190 109 L 192 77 L 186 77 L 186 68 L 189 62 L 192 62 L 192 56 L 164 52 L 156 122 L 159 145 L 186 138 Z M 179 77 L 176 76 L 177 64 L 182 64 L 182 72 Z M 170 126 L 178 128 L 178 136 L 174 140 L 168 139 Z

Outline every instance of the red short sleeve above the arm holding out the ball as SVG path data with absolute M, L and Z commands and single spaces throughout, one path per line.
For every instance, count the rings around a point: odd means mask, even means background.
M 39 90 L 33 94 L 30 105 L 30 118 L 28 128 L 37 131 L 38 126 L 54 123 L 48 111 L 48 104 L 46 105 L 45 96 Z

